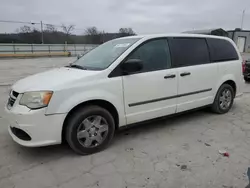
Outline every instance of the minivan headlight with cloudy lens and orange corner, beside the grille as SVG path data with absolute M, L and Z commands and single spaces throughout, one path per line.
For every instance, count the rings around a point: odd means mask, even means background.
M 52 97 L 52 91 L 33 91 L 23 94 L 19 104 L 30 109 L 38 109 L 48 106 Z

